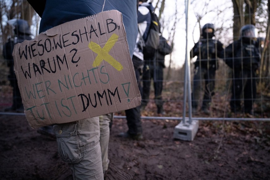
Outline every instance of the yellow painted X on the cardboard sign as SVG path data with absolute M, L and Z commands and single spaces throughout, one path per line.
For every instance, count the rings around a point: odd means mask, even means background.
M 109 51 L 113 48 L 114 44 L 118 41 L 118 35 L 113 34 L 109 40 L 106 42 L 105 46 L 103 48 L 100 47 L 100 45 L 96 44 L 95 42 L 90 42 L 88 47 L 98 54 L 96 56 L 95 61 L 93 62 L 93 66 L 99 66 L 100 63 L 104 60 L 107 61 L 110 65 L 112 65 L 115 69 L 118 71 L 121 71 L 123 69 L 122 64 L 120 62 L 116 61 L 111 55 L 109 55 Z

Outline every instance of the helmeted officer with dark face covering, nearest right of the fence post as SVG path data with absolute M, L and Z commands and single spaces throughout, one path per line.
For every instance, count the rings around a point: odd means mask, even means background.
M 205 24 L 202 28 L 202 34 L 199 42 L 197 42 L 191 49 L 190 57 L 197 56 L 195 61 L 195 72 L 193 79 L 192 90 L 192 111 L 196 112 L 198 108 L 198 101 L 200 97 L 200 90 L 202 89 L 202 81 L 204 85 L 204 97 L 202 104 L 202 111 L 205 114 L 210 114 L 209 107 L 211 97 L 214 95 L 215 74 L 218 69 L 218 57 L 222 57 L 223 44 L 214 39 L 215 28 L 213 24 Z

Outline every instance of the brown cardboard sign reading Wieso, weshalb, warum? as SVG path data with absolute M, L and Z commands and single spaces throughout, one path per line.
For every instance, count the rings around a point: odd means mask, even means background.
M 51 28 L 15 45 L 14 69 L 32 128 L 140 105 L 119 11 Z

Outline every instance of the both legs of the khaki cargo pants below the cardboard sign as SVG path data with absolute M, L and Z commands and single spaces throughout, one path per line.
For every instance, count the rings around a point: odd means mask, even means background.
M 97 153 L 98 155 L 101 155 L 102 159 L 102 169 L 103 169 L 103 174 L 105 175 L 105 172 L 108 169 L 109 166 L 109 159 L 108 159 L 108 145 L 109 145 L 109 136 L 110 136 L 110 128 L 109 124 L 113 120 L 113 115 L 114 113 L 109 113 L 109 114 L 104 114 L 99 117 L 95 118 L 88 118 L 85 119 L 84 121 L 77 121 L 77 122 L 71 122 L 71 123 L 65 123 L 65 124 L 57 124 L 54 125 L 54 133 L 56 137 L 60 140 L 57 141 L 58 144 L 58 152 L 61 158 L 67 162 L 71 163 L 71 169 L 72 172 L 74 173 L 73 176 L 80 176 L 84 177 L 84 174 L 87 174 L 87 168 L 88 165 L 92 164 L 91 166 L 95 167 L 96 169 L 100 169 L 100 163 L 97 163 L 97 160 L 99 159 L 99 156 L 96 156 L 96 159 L 93 160 L 91 157 L 91 154 Z M 89 121 L 94 121 L 96 122 L 96 119 L 99 119 L 99 126 L 100 126 L 100 152 L 98 149 L 97 151 L 92 150 L 96 147 L 98 142 L 90 142 L 87 141 L 86 135 L 90 132 L 88 127 L 90 126 L 91 123 Z M 95 123 L 95 126 L 97 127 L 97 124 Z M 88 137 L 97 137 L 98 131 L 95 131 L 96 127 L 93 127 L 93 132 L 92 134 L 89 133 Z M 77 131 L 77 132 L 76 132 Z M 65 137 L 65 138 L 61 138 Z M 85 141 L 84 141 L 85 140 Z M 74 144 L 75 142 L 75 144 Z M 66 146 L 66 144 L 70 144 L 69 148 L 71 147 L 78 147 L 76 149 L 70 149 L 70 151 L 63 151 L 62 149 L 67 149 L 63 146 Z M 75 146 L 74 146 L 75 145 Z M 84 151 L 88 150 L 89 151 Z M 86 159 L 91 159 L 92 161 L 89 162 L 82 162 L 82 163 L 77 163 L 77 161 L 80 161 L 81 156 L 84 156 Z M 91 158 L 87 158 L 87 156 L 90 156 Z M 95 165 L 95 163 L 97 163 Z M 78 166 L 78 167 L 76 167 Z M 75 170 L 79 169 L 79 170 Z M 91 176 L 93 177 L 100 177 L 98 176 L 98 172 L 89 172 L 92 174 Z M 87 176 L 85 176 L 87 178 Z M 101 178 L 101 177 L 100 177 Z

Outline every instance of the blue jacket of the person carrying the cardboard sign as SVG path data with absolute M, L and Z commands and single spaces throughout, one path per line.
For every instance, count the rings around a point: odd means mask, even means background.
M 43 0 L 42 2 L 28 0 L 28 2 L 41 16 L 39 33 L 68 21 L 100 13 L 104 4 L 104 0 Z M 122 13 L 132 56 L 138 34 L 137 0 L 106 0 L 103 11 L 108 10 L 118 10 Z

